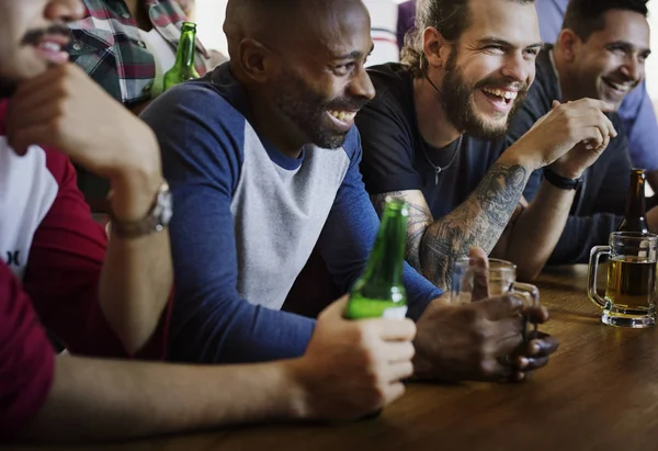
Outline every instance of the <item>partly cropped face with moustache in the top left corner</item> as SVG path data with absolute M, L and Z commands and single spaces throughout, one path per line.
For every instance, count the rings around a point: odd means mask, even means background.
M 0 0 L 0 82 L 11 87 L 68 61 L 65 22 L 79 19 L 79 0 Z

